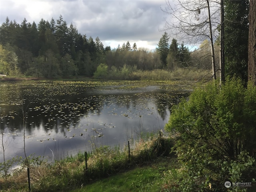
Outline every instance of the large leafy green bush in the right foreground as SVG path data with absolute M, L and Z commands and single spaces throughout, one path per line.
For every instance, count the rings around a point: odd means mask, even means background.
M 255 181 L 255 126 L 256 86 L 231 79 L 196 89 L 172 108 L 165 127 L 182 166 L 166 175 L 170 191 L 226 191 L 225 180 Z

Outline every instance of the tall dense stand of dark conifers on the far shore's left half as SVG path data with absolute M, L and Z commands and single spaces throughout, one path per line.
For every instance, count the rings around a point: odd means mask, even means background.
M 32 24 L 26 18 L 17 24 L 6 21 L 1 25 L 2 73 L 47 78 L 71 75 L 92 76 L 97 64 L 104 62 L 110 47 L 104 47 L 97 37 L 78 33 L 62 16 L 50 22 L 41 19 Z

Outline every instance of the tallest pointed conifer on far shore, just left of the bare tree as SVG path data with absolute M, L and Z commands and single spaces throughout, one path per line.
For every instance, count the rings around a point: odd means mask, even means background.
M 162 61 L 163 67 L 166 67 L 166 58 L 169 52 L 168 41 L 169 41 L 168 34 L 164 32 L 164 34 L 160 38 L 160 41 L 157 44 L 158 48 L 156 48 L 158 54 L 160 54 L 160 59 Z

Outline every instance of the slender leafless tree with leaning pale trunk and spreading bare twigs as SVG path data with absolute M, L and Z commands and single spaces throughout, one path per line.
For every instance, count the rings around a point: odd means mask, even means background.
M 166 1 L 167 8 L 162 9 L 170 15 L 164 30 L 170 30 L 172 36 L 183 40 L 186 44 L 197 45 L 208 38 L 212 47 L 212 74 L 215 79 L 215 54 L 213 39 L 219 35 L 219 3 L 216 1 L 178 0 L 173 5 Z

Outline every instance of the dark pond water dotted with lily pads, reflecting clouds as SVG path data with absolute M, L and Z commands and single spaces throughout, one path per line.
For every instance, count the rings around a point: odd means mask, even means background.
M 1 82 L 1 156 L 59 159 L 159 132 L 188 90 L 143 81 Z M 25 138 L 25 139 L 24 139 Z

